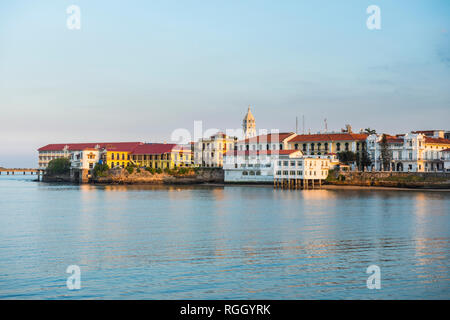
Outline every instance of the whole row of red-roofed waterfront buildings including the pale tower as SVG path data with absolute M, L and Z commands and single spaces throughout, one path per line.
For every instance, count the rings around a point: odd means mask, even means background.
M 241 138 L 218 132 L 186 145 L 144 142 L 49 144 L 38 149 L 39 169 L 52 160 L 70 161 L 73 181 L 89 182 L 95 167 L 112 172 L 127 168 L 151 174 L 219 170 L 225 183 L 270 183 L 309 188 L 321 185 L 333 172 L 446 173 L 450 172 L 450 131 L 411 131 L 402 134 L 340 132 L 258 135 L 250 107 Z M 188 170 L 189 169 L 189 170 Z M 127 170 L 129 173 L 132 170 Z

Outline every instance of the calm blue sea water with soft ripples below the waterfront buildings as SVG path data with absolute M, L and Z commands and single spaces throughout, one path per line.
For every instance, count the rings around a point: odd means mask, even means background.
M 449 192 L 32 179 L 0 177 L 1 299 L 450 298 Z

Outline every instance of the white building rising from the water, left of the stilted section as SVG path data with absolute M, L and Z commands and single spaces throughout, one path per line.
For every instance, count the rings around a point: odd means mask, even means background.
M 223 166 L 225 182 L 273 183 L 274 164 L 281 158 L 300 157 L 295 150 L 239 151 L 226 154 Z

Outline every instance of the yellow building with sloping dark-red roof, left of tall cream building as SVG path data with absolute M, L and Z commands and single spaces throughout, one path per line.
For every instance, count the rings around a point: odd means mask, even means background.
M 145 143 L 131 153 L 131 161 L 140 167 L 173 169 L 192 165 L 191 147 L 166 143 Z

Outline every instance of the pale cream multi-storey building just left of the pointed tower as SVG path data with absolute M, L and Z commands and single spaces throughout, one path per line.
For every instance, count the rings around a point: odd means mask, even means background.
M 200 139 L 194 146 L 194 165 L 223 167 L 225 154 L 234 150 L 237 138 L 219 132 L 209 139 Z

